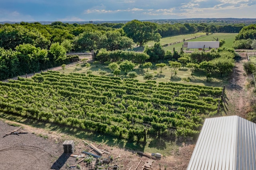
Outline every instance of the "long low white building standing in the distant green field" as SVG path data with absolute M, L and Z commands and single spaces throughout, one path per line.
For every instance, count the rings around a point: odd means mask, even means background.
M 184 42 L 184 48 L 218 48 L 220 47 L 220 42 Z

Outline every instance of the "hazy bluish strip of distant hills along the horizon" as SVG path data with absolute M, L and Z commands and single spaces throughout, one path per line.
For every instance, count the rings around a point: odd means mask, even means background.
M 129 22 L 130 20 L 124 20 L 124 21 L 92 21 L 93 24 L 102 24 L 102 23 L 126 23 Z M 142 21 L 149 21 L 149 22 L 155 22 L 158 24 L 164 24 L 164 23 L 170 23 L 170 24 L 175 24 L 175 23 L 208 23 L 208 24 L 256 24 L 256 18 L 184 18 L 184 19 L 159 19 L 159 20 L 142 20 Z M 39 21 L 43 25 L 51 24 L 52 22 L 55 21 Z M 12 21 L 0 21 L 0 24 L 16 24 L 20 22 L 12 22 Z M 28 22 L 28 23 L 33 23 L 33 22 Z M 89 21 L 66 21 L 63 23 L 68 23 L 68 24 L 89 24 Z

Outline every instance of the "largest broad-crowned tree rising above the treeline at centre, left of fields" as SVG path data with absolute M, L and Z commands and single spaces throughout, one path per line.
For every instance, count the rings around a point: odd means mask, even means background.
M 141 22 L 139 20 L 132 20 L 126 23 L 123 27 L 124 32 L 140 47 L 149 41 L 160 41 L 160 34 L 157 33 L 158 26 L 152 22 Z

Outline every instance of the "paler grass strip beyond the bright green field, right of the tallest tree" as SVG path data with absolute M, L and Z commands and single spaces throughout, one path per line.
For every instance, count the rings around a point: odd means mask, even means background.
M 198 32 L 195 34 L 184 34 L 184 35 L 172 36 L 172 37 L 164 37 L 164 38 L 161 38 L 160 44 L 164 45 L 167 43 L 180 42 L 180 41 L 183 41 L 183 39 L 188 40 L 188 39 L 200 37 L 200 36 L 206 36 L 205 32 Z M 154 43 L 156 42 L 151 41 L 151 42 L 148 42 L 147 45 L 152 46 L 154 45 Z

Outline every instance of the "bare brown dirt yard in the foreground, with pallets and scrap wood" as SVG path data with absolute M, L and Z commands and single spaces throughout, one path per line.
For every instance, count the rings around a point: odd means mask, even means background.
M 4 136 L 9 130 L 16 127 L 9 124 L 22 126 L 22 131 L 28 134 L 8 135 Z M 42 136 L 42 137 L 40 137 Z M 0 121 L 0 165 L 3 170 L 65 170 L 71 165 L 77 165 L 78 160 L 70 157 L 70 153 L 64 153 L 63 142 L 65 140 L 74 140 L 75 154 L 81 154 L 83 150 L 90 150 L 81 139 L 76 139 L 66 134 L 57 132 L 48 132 L 44 129 L 30 127 L 28 125 L 15 123 L 12 121 Z M 70 139 L 71 138 L 71 139 Z M 89 141 L 86 140 L 89 143 Z M 96 144 L 95 144 L 96 145 Z M 113 148 L 101 144 L 99 148 L 110 152 L 114 159 L 110 165 L 118 165 L 119 170 L 135 170 L 144 165 L 147 157 L 141 157 L 135 151 Z M 193 152 L 194 145 L 182 146 L 174 156 L 164 156 L 159 160 L 153 160 L 152 170 L 185 170 L 190 156 Z M 151 153 L 148 153 L 150 155 Z M 104 158 L 108 158 L 108 154 L 103 154 Z M 142 162 L 139 164 L 140 160 Z M 139 164 L 139 165 L 138 165 Z M 88 166 L 85 162 L 81 162 L 81 169 L 87 170 Z M 77 168 L 72 168 L 77 169 Z

